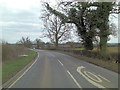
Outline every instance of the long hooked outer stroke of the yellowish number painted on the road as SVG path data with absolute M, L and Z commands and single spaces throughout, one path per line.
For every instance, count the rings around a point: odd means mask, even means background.
M 104 86 L 102 86 L 102 85 L 100 85 L 100 84 L 92 81 L 92 80 L 89 79 L 88 77 L 86 77 L 86 76 L 81 72 L 81 70 L 82 70 L 83 68 L 85 68 L 85 67 L 83 67 L 83 66 L 78 67 L 78 68 L 77 68 L 77 72 L 78 72 L 79 74 L 81 74 L 88 82 L 90 82 L 90 83 L 93 84 L 94 86 L 96 86 L 96 87 L 98 87 L 98 88 L 105 88 Z

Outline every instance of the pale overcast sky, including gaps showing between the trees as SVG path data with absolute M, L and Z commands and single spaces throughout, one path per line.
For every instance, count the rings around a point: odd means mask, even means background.
M 51 4 L 55 4 L 55 0 Z M 42 13 L 40 0 L 0 0 L 0 31 L 2 40 L 15 43 L 21 37 L 31 40 L 39 38 L 43 34 L 43 22 L 39 19 Z M 113 18 L 112 22 L 118 24 L 118 18 Z M 41 38 L 48 42 L 48 38 Z M 77 41 L 76 37 L 72 41 Z M 117 43 L 118 37 L 111 37 L 109 43 Z

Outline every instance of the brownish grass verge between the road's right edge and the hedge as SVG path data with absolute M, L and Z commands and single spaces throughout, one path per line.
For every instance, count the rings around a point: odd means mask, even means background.
M 119 63 L 114 63 L 113 61 L 105 61 L 105 60 L 100 60 L 100 59 L 89 58 L 89 57 L 86 57 L 86 56 L 76 55 L 76 54 L 73 54 L 71 52 L 63 52 L 63 51 L 58 51 L 58 50 L 56 50 L 56 51 L 60 52 L 60 53 L 63 53 L 63 54 L 73 56 L 73 57 L 78 58 L 80 60 L 84 60 L 86 62 L 95 64 L 97 66 L 106 68 L 108 70 L 111 70 L 111 71 L 114 71 L 114 72 L 117 72 L 117 73 L 120 74 L 120 72 L 118 70 L 118 65 L 120 65 Z

